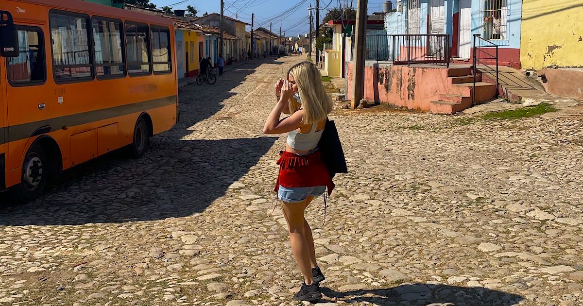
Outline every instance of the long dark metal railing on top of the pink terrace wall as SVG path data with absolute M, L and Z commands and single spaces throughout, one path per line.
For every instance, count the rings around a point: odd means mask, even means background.
M 366 59 L 395 65 L 435 64 L 449 67 L 449 34 L 367 35 Z

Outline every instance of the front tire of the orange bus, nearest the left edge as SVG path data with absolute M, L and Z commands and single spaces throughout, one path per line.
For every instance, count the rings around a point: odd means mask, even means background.
M 20 184 L 11 189 L 12 198 L 19 203 L 27 203 L 37 199 L 47 185 L 49 168 L 50 165 L 43 146 L 35 143 L 24 157 L 22 178 Z

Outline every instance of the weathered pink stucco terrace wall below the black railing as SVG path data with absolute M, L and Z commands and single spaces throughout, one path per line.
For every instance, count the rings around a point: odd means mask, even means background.
M 349 63 L 346 79 L 347 94 L 354 97 L 353 64 Z M 448 93 L 448 69 L 445 67 L 414 67 L 381 65 L 375 76 L 373 66 L 364 68 L 364 99 L 380 101 L 411 110 L 429 111 L 430 102 Z

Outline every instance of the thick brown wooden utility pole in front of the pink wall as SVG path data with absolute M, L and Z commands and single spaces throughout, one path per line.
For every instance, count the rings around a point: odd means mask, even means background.
M 364 46 L 366 45 L 367 0 L 358 0 L 356 7 L 356 40 L 354 40 L 354 99 L 356 108 L 364 97 Z

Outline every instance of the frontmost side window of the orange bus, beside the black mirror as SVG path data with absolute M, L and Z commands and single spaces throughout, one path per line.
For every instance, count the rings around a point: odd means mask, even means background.
M 8 82 L 12 86 L 44 83 L 47 79 L 44 65 L 43 30 L 38 27 L 17 27 L 19 55 L 7 58 Z

